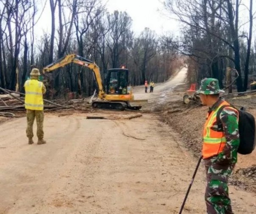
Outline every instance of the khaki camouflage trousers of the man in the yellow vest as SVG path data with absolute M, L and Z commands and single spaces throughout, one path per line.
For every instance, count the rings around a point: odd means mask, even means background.
M 27 109 L 27 137 L 33 138 L 33 124 L 34 120 L 36 118 L 36 125 L 37 125 L 37 132 L 36 135 L 39 139 L 44 138 L 44 130 L 43 130 L 43 124 L 44 124 L 44 111 L 36 111 L 36 110 L 30 110 Z

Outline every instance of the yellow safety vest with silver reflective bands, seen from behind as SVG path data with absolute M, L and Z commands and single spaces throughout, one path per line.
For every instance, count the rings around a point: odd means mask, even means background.
M 36 79 L 29 79 L 24 84 L 25 87 L 25 108 L 31 110 L 44 110 L 42 87 L 43 83 Z

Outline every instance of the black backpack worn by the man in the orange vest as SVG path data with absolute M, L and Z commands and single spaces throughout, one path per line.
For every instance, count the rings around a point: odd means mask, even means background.
M 224 105 L 221 106 L 219 111 L 217 112 L 218 130 L 223 131 L 222 123 L 220 121 L 220 113 L 223 108 L 228 106 L 235 108 L 232 105 Z M 255 148 L 255 119 L 252 114 L 245 111 L 244 107 L 242 107 L 241 109 L 237 109 L 237 111 L 239 112 L 238 129 L 240 138 L 240 144 L 237 152 L 239 154 L 250 154 Z

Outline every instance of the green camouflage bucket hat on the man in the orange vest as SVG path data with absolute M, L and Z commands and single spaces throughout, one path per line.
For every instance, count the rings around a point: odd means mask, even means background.
M 202 79 L 198 94 L 203 95 L 216 95 L 223 94 L 225 91 L 220 90 L 219 81 L 214 78 L 205 78 Z

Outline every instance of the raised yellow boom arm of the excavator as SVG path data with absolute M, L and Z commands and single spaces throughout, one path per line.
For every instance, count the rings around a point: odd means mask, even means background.
M 92 62 L 91 60 L 87 60 L 84 57 L 80 57 L 76 54 L 69 54 L 57 60 L 56 62 L 53 62 L 50 65 L 45 66 L 43 68 L 43 73 L 51 72 L 57 68 L 63 68 L 65 65 L 68 65 L 72 62 L 78 65 L 82 65 L 86 68 L 90 68 L 93 71 L 93 73 L 95 74 L 97 85 L 99 87 L 99 98 L 101 99 L 105 98 L 106 94 L 103 90 L 103 84 L 102 84 L 102 79 L 100 75 L 100 68 L 95 64 L 95 62 Z

